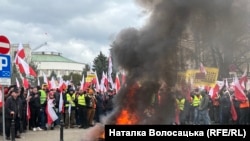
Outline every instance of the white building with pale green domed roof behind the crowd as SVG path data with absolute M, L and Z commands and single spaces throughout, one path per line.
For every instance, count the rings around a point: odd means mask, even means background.
M 18 45 L 19 44 L 12 45 L 13 58 Z M 32 61 L 37 66 L 37 75 L 39 77 L 43 76 L 43 73 L 46 76 L 50 76 L 53 71 L 57 76 L 69 75 L 70 73 L 82 74 L 85 68 L 84 63 L 79 63 L 63 57 L 62 53 L 50 47 L 48 43 L 33 50 L 30 48 L 29 44 L 23 44 L 23 47 L 26 53 L 25 60 L 28 63 Z

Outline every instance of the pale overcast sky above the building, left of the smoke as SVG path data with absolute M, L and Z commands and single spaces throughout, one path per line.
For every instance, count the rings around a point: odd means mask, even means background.
M 44 42 L 74 61 L 91 64 L 124 28 L 140 28 L 143 14 L 133 0 L 1 0 L 0 35 L 11 44 Z

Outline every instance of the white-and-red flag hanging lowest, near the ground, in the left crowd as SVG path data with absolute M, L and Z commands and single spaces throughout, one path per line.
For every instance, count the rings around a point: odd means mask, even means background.
M 54 110 L 54 99 L 47 99 L 46 113 L 47 113 L 47 123 L 51 125 L 55 120 L 58 119 L 56 111 Z

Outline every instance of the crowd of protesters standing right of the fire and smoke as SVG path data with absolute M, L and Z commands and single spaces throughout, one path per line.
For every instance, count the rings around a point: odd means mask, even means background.
M 190 125 L 250 125 L 250 90 L 246 99 L 238 100 L 233 89 L 223 86 L 215 98 L 206 89 L 194 89 L 188 99 L 181 92 L 176 97 L 174 124 Z

